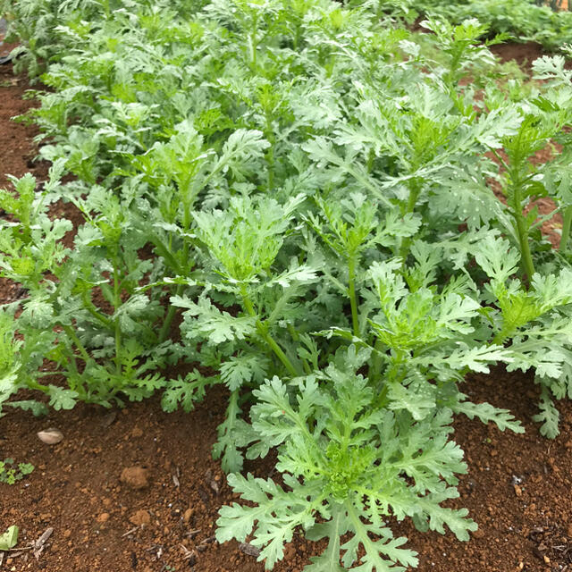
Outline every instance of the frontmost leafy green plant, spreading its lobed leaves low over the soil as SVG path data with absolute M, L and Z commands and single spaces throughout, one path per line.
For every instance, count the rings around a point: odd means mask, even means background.
M 321 387 L 324 382 L 332 384 L 330 391 Z M 329 541 L 307 570 L 351 568 L 360 548 L 359 569 L 389 570 L 417 564 L 415 553 L 402 548 L 407 539 L 394 538 L 385 525 L 390 514 L 441 532 L 449 526 L 460 540 L 468 539 L 476 526 L 465 518 L 467 510 L 440 507 L 458 495 L 449 485 L 457 483 L 455 473 L 466 470 L 462 451 L 448 439 L 450 413 L 416 422 L 407 412 L 378 408 L 363 376 L 335 366 L 323 379 L 309 376 L 297 385 L 292 405 L 290 388 L 274 378 L 257 391 L 252 411 L 254 428 L 279 446 L 284 487 L 230 475 L 234 491 L 255 506 L 223 507 L 219 541 L 244 541 L 255 527 L 250 542 L 263 547 L 259 559 L 272 568 L 294 529 L 303 526 L 308 539 Z

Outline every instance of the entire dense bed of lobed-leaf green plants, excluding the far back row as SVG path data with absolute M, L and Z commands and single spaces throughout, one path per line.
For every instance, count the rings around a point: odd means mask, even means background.
M 572 395 L 564 58 L 523 90 L 478 21 L 417 37 L 368 1 L 4 4 L 19 65 L 46 63 L 29 119 L 53 166 L 0 194 L 1 273 L 26 291 L 0 313 L 0 405 L 189 411 L 224 384 L 214 455 L 249 502 L 219 540 L 254 531 L 272 568 L 302 527 L 329 539 L 308 570 L 378 572 L 417 561 L 389 516 L 466 540 L 442 507 L 466 471 L 453 416 L 522 430 L 467 374 L 534 371 L 550 436 Z M 275 449 L 280 484 L 240 475 Z

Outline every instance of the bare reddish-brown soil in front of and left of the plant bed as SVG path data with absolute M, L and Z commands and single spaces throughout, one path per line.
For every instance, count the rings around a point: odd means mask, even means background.
M 6 67 L 0 81 L 11 80 Z M 0 88 L 2 171 L 21 175 L 34 155 L 34 130 L 8 122 L 22 113 L 25 82 Z M 45 171 L 40 173 L 40 178 Z M 4 181 L 5 182 L 5 181 Z M 4 291 L 3 291 L 4 290 Z M 0 299 L 13 299 L 0 283 Z M 562 434 L 546 441 L 530 422 L 538 391 L 529 375 L 497 369 L 464 387 L 473 400 L 509 408 L 526 433 L 501 433 L 460 417 L 456 439 L 466 451 L 469 472 L 461 497 L 479 525 L 469 543 L 452 534 L 422 534 L 410 522 L 395 526 L 420 553 L 420 572 L 568 572 L 572 570 L 572 404 L 559 403 Z M 0 532 L 20 526 L 26 549 L 48 527 L 54 532 L 35 559 L 30 551 L 4 554 L 0 570 L 23 572 L 262 572 L 264 566 L 237 543 L 213 539 L 218 509 L 232 499 L 220 465 L 210 456 L 226 395 L 210 391 L 191 414 L 164 414 L 157 400 L 108 412 L 88 405 L 34 418 L 10 411 L 0 418 L 0 459 L 13 457 L 36 469 L 25 480 L 0 484 Z M 63 442 L 46 445 L 36 433 L 63 432 Z M 148 484 L 123 483 L 125 468 L 147 469 Z M 267 476 L 265 464 L 249 465 Z M 141 523 L 147 523 L 141 526 Z M 301 534 L 286 547 L 275 569 L 299 572 L 317 552 Z

